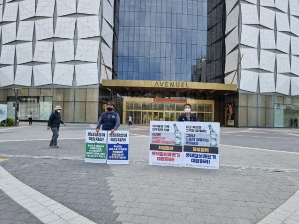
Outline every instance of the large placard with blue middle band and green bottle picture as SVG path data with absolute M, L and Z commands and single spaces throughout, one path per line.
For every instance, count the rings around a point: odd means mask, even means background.
M 219 132 L 217 122 L 183 122 L 183 166 L 219 169 Z

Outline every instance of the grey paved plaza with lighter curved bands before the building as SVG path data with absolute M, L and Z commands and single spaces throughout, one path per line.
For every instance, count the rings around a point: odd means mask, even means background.
M 299 128 L 220 129 L 220 169 L 149 165 L 149 126 L 130 130 L 130 164 L 84 162 L 71 123 L 0 127 L 0 224 L 299 224 Z

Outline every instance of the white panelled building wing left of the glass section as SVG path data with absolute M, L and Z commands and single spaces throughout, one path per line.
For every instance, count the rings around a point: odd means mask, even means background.
M 65 121 L 97 120 L 101 80 L 112 76 L 113 6 L 0 1 L 0 104 L 8 116 L 14 118 L 16 93 L 19 119 L 32 112 L 34 120 L 47 120 L 60 105 Z

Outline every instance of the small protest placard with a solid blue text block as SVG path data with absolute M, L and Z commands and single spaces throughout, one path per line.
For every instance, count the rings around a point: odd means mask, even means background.
M 129 131 L 108 131 L 107 164 L 129 164 Z

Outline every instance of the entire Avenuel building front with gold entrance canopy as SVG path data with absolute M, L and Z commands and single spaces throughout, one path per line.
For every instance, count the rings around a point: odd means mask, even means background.
M 2 14 L 1 14 L 2 13 Z M 288 127 L 299 118 L 299 0 L 0 0 L 0 104 L 14 118 Z

